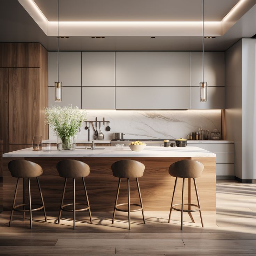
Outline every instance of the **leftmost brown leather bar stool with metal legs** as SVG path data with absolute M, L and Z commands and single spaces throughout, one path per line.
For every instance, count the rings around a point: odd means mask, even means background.
M 10 216 L 9 226 L 11 225 L 14 211 L 23 212 L 23 221 L 25 221 L 25 212 L 29 212 L 30 229 L 32 229 L 32 211 L 38 211 L 38 210 L 43 209 L 43 214 L 45 215 L 45 222 L 47 222 L 45 203 L 43 202 L 43 195 L 42 195 L 42 191 L 41 191 L 41 187 L 40 187 L 40 183 L 39 183 L 39 179 L 38 179 L 38 177 L 43 174 L 43 170 L 42 170 L 41 166 L 38 165 L 37 163 L 33 163 L 33 162 L 30 162 L 27 160 L 12 160 L 8 163 L 8 169 L 11 173 L 11 176 L 17 178 L 17 184 L 16 184 L 16 188 L 15 188 L 15 193 L 14 193 L 13 207 L 11 208 L 11 216 Z M 39 188 L 42 205 L 34 204 L 35 206 L 39 206 L 39 207 L 32 209 L 30 178 L 34 178 L 34 177 L 37 179 L 37 184 L 38 184 L 38 188 Z M 15 206 L 20 178 L 23 178 L 23 203 Z M 25 178 L 27 178 L 28 187 L 29 187 L 29 203 L 25 203 Z M 26 205 L 29 205 L 29 209 L 25 209 Z M 23 207 L 23 209 L 18 210 L 17 208 L 19 208 L 19 207 Z

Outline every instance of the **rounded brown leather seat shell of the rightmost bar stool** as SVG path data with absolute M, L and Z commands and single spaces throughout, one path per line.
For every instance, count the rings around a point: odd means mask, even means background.
M 203 164 L 195 160 L 181 160 L 169 167 L 169 174 L 178 178 L 198 178 L 202 175 Z

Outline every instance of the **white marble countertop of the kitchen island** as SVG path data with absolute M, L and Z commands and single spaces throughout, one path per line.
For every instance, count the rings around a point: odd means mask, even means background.
M 17 150 L 3 154 L 3 157 L 216 157 L 216 155 L 200 147 L 158 147 L 146 146 L 143 151 L 134 152 L 129 147 L 117 149 L 116 147 L 96 147 L 95 150 L 78 147 L 73 151 L 58 151 L 56 147 L 50 152 L 32 151 L 28 149 Z

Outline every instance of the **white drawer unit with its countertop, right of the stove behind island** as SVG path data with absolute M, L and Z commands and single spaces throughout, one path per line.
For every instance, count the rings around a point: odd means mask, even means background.
M 234 143 L 193 143 L 189 146 L 201 147 L 216 154 L 216 176 L 234 176 Z

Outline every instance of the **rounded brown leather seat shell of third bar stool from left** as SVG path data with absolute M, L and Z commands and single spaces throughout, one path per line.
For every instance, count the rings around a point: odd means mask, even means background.
M 115 177 L 138 178 L 143 176 L 145 166 L 139 161 L 126 159 L 113 163 L 111 169 Z

